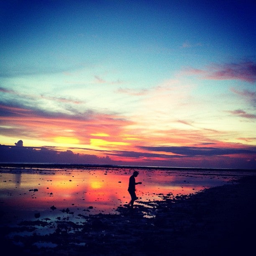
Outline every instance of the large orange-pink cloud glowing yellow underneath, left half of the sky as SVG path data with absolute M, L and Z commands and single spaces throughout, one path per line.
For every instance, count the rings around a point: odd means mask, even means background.
M 6 115 L 2 116 L 0 125 L 15 130 L 15 136 L 33 140 L 55 143 L 87 144 L 93 140 L 94 145 L 104 146 L 128 145 L 122 134 L 131 121 L 117 115 L 87 113 L 82 116 L 40 113 L 25 108 L 0 106 Z M 99 141 L 95 136 L 108 136 L 108 141 Z

